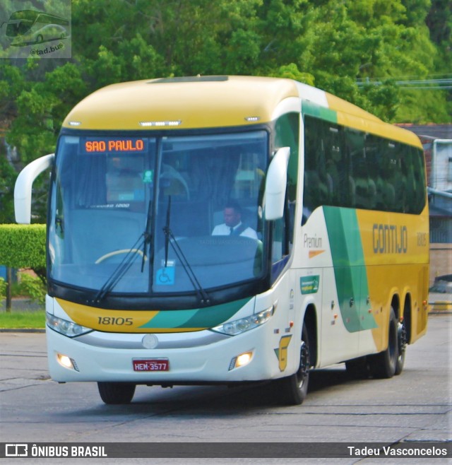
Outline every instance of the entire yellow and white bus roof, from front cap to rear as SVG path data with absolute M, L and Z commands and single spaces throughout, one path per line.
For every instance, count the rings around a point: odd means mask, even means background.
M 202 129 L 270 122 L 278 105 L 292 101 L 325 108 L 328 119 L 420 146 L 410 131 L 323 90 L 292 79 L 256 76 L 157 78 L 112 84 L 88 95 L 63 126 L 85 130 Z M 331 114 L 334 115 L 331 118 Z M 321 116 L 319 116 L 321 117 Z

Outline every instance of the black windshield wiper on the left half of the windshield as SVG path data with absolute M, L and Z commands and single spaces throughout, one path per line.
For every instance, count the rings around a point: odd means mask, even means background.
M 143 247 L 143 259 L 141 262 L 141 272 L 143 273 L 145 259 L 146 259 L 146 249 L 147 246 L 150 245 L 151 241 L 151 224 L 150 224 L 150 217 L 151 217 L 151 209 L 152 209 L 152 202 L 149 201 L 148 204 L 148 216 L 146 218 L 146 225 L 145 230 L 143 233 L 138 237 L 135 244 L 129 249 L 129 252 L 126 253 L 124 259 L 121 260 L 121 263 L 117 266 L 112 273 L 112 275 L 105 281 L 104 285 L 100 290 L 97 292 L 94 298 L 94 302 L 101 302 L 105 296 L 114 288 L 114 286 L 121 281 L 124 275 L 129 271 L 130 267 L 133 265 L 133 262 L 136 261 L 138 254 L 136 252 L 141 250 Z

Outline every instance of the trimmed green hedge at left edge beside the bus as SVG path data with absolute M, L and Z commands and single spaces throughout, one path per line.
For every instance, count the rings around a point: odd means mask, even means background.
M 45 225 L 0 225 L 0 264 L 42 270 L 45 261 Z

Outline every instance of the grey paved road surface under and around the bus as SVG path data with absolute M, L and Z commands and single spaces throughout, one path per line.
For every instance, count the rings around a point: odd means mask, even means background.
M 430 315 L 393 379 L 355 380 L 343 365 L 313 372 L 302 406 L 283 407 L 258 387 L 137 387 L 129 406 L 106 406 L 95 383 L 49 379 L 44 334 L 0 334 L 2 442 L 431 442 L 452 440 L 450 314 Z M 39 459 L 40 461 L 44 459 Z M 76 459 L 52 459 L 52 464 Z M 138 463 L 131 459 L 128 463 Z M 208 460 L 208 461 L 207 461 Z M 240 463 L 383 463 L 381 459 L 241 459 Z M 404 459 L 393 463 L 403 464 Z M 19 463 L 22 459 L 11 459 Z M 124 463 L 97 459 L 99 463 Z M 97 462 L 90 459 L 90 463 Z M 238 463 L 153 459 L 152 463 Z M 4 462 L 5 463 L 5 462 Z M 25 462 L 24 462 L 25 463 Z M 143 462 L 144 463 L 144 462 Z M 386 459 L 386 464 L 392 463 Z M 410 459 L 429 463 L 428 459 Z M 435 459 L 435 464 L 450 463 Z

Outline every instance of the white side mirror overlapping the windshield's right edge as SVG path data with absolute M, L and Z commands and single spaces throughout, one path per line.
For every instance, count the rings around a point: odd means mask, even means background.
M 266 220 L 283 218 L 289 157 L 290 147 L 279 148 L 268 167 L 264 208 Z

